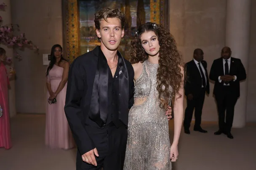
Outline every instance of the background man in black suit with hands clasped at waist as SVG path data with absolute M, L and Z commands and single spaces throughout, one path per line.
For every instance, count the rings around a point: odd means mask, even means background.
M 246 79 L 246 73 L 241 60 L 232 58 L 231 54 L 229 47 L 224 47 L 221 50 L 221 58 L 214 60 L 211 66 L 210 79 L 215 81 L 213 94 L 219 112 L 219 131 L 214 134 L 224 133 L 228 138 L 233 139 L 231 128 L 234 109 L 240 96 L 240 81 Z

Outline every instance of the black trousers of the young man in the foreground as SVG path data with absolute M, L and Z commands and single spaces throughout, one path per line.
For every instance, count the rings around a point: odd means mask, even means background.
M 77 170 L 123 170 L 127 129 L 125 126 L 116 128 L 113 123 L 104 129 L 86 126 L 86 131 L 91 136 L 99 157 L 96 157 L 97 167 L 83 162 L 82 156 L 77 151 Z

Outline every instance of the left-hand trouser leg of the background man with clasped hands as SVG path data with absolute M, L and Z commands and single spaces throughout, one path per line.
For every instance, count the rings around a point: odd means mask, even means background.
M 215 99 L 217 102 L 218 115 L 219 115 L 219 130 L 224 132 L 226 130 L 226 125 L 225 125 L 226 100 L 225 100 L 225 96 L 215 97 Z

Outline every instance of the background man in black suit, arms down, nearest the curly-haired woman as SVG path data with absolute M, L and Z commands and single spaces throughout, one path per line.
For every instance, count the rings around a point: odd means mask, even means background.
M 201 116 L 205 92 L 209 94 L 209 79 L 207 73 L 207 63 L 203 60 L 203 50 L 194 50 L 194 59 L 186 63 L 186 84 L 185 95 L 187 96 L 187 108 L 184 117 L 184 132 L 190 134 L 189 127 L 195 108 L 194 131 L 207 133 L 201 128 Z

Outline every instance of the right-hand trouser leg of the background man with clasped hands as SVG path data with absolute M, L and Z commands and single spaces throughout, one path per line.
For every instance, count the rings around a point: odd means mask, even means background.
M 226 131 L 229 133 L 232 128 L 235 104 L 237 102 L 237 97 L 229 95 L 226 97 Z

